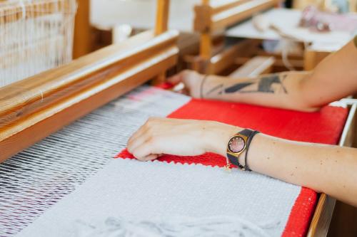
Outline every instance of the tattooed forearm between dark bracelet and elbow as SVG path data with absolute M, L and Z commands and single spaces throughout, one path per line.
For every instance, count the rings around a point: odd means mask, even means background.
M 226 78 L 208 75 L 201 85 L 205 99 L 244 102 L 253 105 L 312 111 L 301 98 L 298 87 L 306 72 L 276 73 L 258 78 Z

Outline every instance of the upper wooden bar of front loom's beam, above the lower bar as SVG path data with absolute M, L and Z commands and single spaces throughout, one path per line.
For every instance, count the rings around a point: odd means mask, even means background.
M 68 65 L 1 88 L 0 127 L 36 112 L 53 100 L 61 99 L 61 96 L 98 83 L 101 78 L 94 77 L 94 73 L 102 70 L 101 75 L 109 76 L 130 68 L 137 61 L 148 58 L 167 46 L 173 46 L 176 37 L 176 31 L 157 38 L 153 32 L 146 31 L 120 45 L 109 46 Z

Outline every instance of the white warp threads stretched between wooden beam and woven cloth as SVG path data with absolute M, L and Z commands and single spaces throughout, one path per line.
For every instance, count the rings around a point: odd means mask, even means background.
M 14 236 L 98 172 L 149 117 L 165 117 L 188 100 L 138 88 L 0 164 L 0 236 Z

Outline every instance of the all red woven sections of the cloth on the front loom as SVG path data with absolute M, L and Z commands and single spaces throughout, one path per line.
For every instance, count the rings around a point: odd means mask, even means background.
M 348 110 L 323 107 L 318 112 L 296 112 L 233 102 L 193 99 L 169 117 L 215 120 L 239 127 L 259 130 L 267 135 L 301 142 L 337 144 L 343 131 Z M 124 150 L 117 157 L 134 158 Z M 223 167 L 226 159 L 217 154 L 196 157 L 164 155 L 158 159 L 181 164 L 204 164 Z M 283 236 L 305 236 L 317 202 L 316 192 L 303 188 L 292 206 Z

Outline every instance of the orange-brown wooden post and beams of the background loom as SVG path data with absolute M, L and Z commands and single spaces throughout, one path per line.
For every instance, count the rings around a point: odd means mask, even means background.
M 259 41 L 238 43 L 216 53 L 213 47 L 215 35 L 280 2 L 281 0 L 230 0 L 225 4 L 213 6 L 209 0 L 202 0 L 202 4 L 195 6 L 193 24 L 194 30 L 201 34 L 200 53 L 198 58 L 191 60 L 191 68 L 201 73 L 218 74 L 227 65 L 233 65 L 239 52 L 257 46 Z

